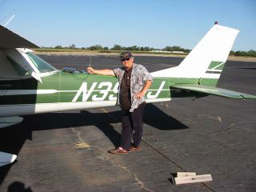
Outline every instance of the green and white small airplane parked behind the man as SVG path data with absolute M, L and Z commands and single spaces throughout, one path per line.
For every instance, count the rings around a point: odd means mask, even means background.
M 145 94 L 146 103 L 208 95 L 256 99 L 216 87 L 238 32 L 215 23 L 179 66 L 151 73 L 154 82 Z M 34 43 L 4 26 L 0 35 L 0 128 L 22 122 L 20 116 L 27 114 L 118 105 L 117 78 L 70 68 L 57 70 L 32 53 L 31 48 L 38 48 Z M 0 166 L 16 158 L 0 151 Z

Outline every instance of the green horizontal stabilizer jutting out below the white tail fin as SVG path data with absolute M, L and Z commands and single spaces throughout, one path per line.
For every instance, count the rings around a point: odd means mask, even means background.
M 204 94 L 213 94 L 225 98 L 252 98 L 256 99 L 256 96 L 252 94 L 244 94 L 241 92 L 237 92 L 234 90 L 225 90 L 222 88 L 218 87 L 213 87 L 213 86 L 201 86 L 201 85 L 195 85 L 195 84 L 180 84 L 180 85 L 175 85 L 171 86 L 173 88 L 178 88 L 182 90 L 193 90 L 199 93 L 204 93 Z

